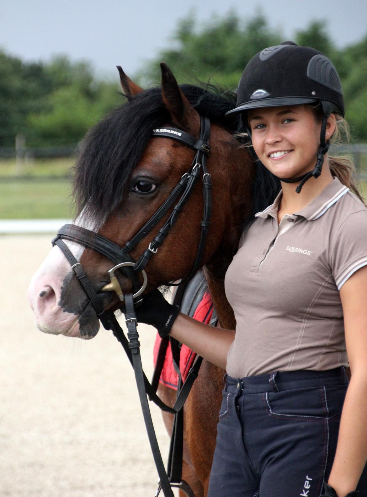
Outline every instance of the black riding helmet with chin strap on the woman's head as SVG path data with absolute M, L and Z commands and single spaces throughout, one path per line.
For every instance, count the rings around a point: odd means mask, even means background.
M 292 41 L 265 48 L 245 67 L 238 84 L 236 107 L 226 113 L 242 113 L 251 140 L 247 110 L 306 103 L 320 103 L 324 114 L 317 163 L 312 171 L 302 176 L 279 178 L 288 183 L 301 181 L 297 193 L 307 179 L 321 174 L 324 154 L 329 150 L 329 143 L 325 141 L 327 118 L 332 112 L 344 117 L 342 84 L 333 63 L 318 50 L 298 47 Z M 252 155 L 257 159 L 253 149 Z

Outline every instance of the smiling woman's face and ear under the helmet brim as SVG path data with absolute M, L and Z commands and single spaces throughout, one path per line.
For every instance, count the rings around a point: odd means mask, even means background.
M 326 133 L 334 131 L 328 119 Z M 335 119 L 334 119 L 335 121 Z M 296 177 L 312 170 L 320 145 L 321 122 L 307 105 L 251 109 L 248 123 L 252 145 L 264 164 L 280 178 Z

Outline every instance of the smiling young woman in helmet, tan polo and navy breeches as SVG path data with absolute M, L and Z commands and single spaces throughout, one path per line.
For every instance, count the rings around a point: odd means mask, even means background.
M 344 116 L 338 74 L 312 48 L 267 48 L 230 112 L 282 183 L 226 273 L 236 330 L 159 292 L 138 319 L 226 369 L 209 497 L 367 496 L 367 208 L 328 157 Z

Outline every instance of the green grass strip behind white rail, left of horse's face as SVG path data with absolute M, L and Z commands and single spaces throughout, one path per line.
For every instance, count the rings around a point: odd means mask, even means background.
M 72 218 L 70 195 L 65 179 L 0 179 L 0 219 Z

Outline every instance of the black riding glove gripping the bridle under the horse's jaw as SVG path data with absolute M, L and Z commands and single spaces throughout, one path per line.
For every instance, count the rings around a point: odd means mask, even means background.
M 138 323 L 146 323 L 157 329 L 161 338 L 171 331 L 180 312 L 179 306 L 169 304 L 158 289 L 144 295 L 143 302 L 135 309 Z

